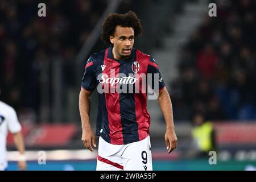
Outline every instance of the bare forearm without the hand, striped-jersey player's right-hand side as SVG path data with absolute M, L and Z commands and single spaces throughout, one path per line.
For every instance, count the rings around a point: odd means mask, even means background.
M 166 121 L 166 129 L 174 129 L 174 116 L 172 114 L 171 98 L 164 88 L 159 92 L 158 102 Z

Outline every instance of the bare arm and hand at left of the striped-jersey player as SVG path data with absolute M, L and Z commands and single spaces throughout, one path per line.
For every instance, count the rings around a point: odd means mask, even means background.
M 93 152 L 94 150 L 92 148 L 92 144 L 94 147 L 96 147 L 96 143 L 95 143 L 95 137 L 94 137 L 93 131 L 90 127 L 90 119 L 89 119 L 91 94 L 92 92 L 89 92 L 84 88 L 81 88 L 81 91 L 79 94 L 79 110 L 80 110 L 81 126 L 82 126 L 81 140 L 82 140 L 82 143 L 84 143 L 84 146 L 88 148 L 91 152 Z

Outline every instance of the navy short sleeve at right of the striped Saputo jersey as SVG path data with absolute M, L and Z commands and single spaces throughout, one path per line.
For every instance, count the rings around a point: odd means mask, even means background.
M 159 71 L 159 67 L 158 64 L 156 63 L 156 61 L 150 57 L 150 61 L 148 62 L 148 66 L 147 66 L 147 74 L 150 74 L 152 76 L 152 78 L 149 80 L 148 84 L 150 84 L 152 86 L 152 89 L 154 90 L 162 90 L 165 86 L 164 84 L 164 80 L 163 77 Z M 158 83 L 158 88 L 155 88 L 155 83 Z

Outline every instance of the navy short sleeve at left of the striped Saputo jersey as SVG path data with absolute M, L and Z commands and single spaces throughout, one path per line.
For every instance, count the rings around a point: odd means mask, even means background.
M 88 59 L 85 65 L 84 76 L 82 77 L 82 88 L 92 92 L 96 88 L 96 76 L 94 72 L 94 63 L 92 56 Z

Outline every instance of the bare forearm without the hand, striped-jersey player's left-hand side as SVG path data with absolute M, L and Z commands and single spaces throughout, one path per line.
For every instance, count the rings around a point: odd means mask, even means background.
M 82 130 L 90 129 L 90 95 L 81 89 L 79 94 L 79 110 Z

